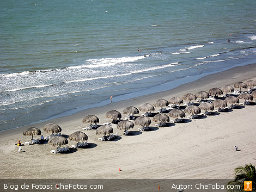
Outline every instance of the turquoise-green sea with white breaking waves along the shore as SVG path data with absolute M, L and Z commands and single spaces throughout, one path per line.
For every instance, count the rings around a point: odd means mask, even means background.
M 255 63 L 255 9 L 254 0 L 0 0 L 0 130 Z

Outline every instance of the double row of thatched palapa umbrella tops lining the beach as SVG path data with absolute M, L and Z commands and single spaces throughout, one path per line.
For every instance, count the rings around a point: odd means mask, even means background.
M 253 80 L 248 81 L 247 84 L 249 86 L 256 86 L 256 82 Z M 240 91 L 241 91 L 241 88 L 247 88 L 247 84 L 243 83 L 243 82 L 239 82 L 239 83 L 235 84 L 235 87 L 240 88 Z M 207 100 L 207 98 L 209 98 L 210 95 L 221 95 L 221 94 L 223 94 L 223 92 L 228 93 L 228 92 L 233 92 L 233 91 L 234 91 L 233 87 L 231 87 L 229 85 L 225 85 L 225 86 L 222 86 L 221 89 L 212 88 L 208 92 L 199 91 L 195 95 L 188 93 L 188 94 L 185 94 L 184 96 L 182 96 L 182 98 L 172 97 L 168 101 L 164 100 L 163 98 L 160 98 L 153 105 L 155 107 L 163 108 L 163 107 L 168 106 L 169 104 L 179 105 L 179 104 L 183 103 L 183 100 L 187 100 L 189 102 L 192 100 L 196 100 L 197 98 L 201 98 L 202 100 Z M 243 100 L 253 100 L 253 98 L 256 98 L 256 91 L 253 91 L 252 94 L 243 93 L 243 94 L 240 94 L 238 97 L 228 96 L 227 98 L 225 98 L 225 100 L 216 99 L 216 100 L 212 101 L 212 103 L 203 102 L 199 106 L 191 105 L 191 106 L 188 106 L 185 108 L 185 112 L 188 114 L 196 115 L 201 112 L 201 109 L 202 110 L 213 110 L 214 107 L 224 108 L 224 107 L 227 107 L 227 103 L 230 103 L 230 104 L 239 103 L 239 98 L 241 98 Z M 155 108 L 153 105 L 151 105 L 149 103 L 144 103 L 138 107 L 139 109 L 137 109 L 136 107 L 130 106 L 130 107 L 125 108 L 123 110 L 123 113 L 127 114 L 128 116 L 132 116 L 132 115 L 139 114 L 139 110 L 141 112 L 154 112 Z M 181 109 L 173 109 L 173 110 L 170 110 L 168 115 L 173 118 L 183 118 L 186 116 L 185 112 Z M 156 114 L 153 117 L 153 121 L 156 121 L 156 122 L 160 121 L 161 123 L 169 122 L 168 115 L 163 114 L 163 113 Z M 111 110 L 106 113 L 106 117 L 111 118 L 113 120 L 117 120 L 117 119 L 121 119 L 121 114 L 117 110 Z M 83 122 L 90 123 L 92 125 L 92 123 L 94 123 L 94 124 L 99 123 L 99 118 L 95 115 L 87 115 L 86 117 L 84 117 Z M 135 125 L 139 125 L 142 127 L 148 127 L 150 125 L 150 123 L 151 123 L 151 120 L 147 116 L 141 116 L 135 120 Z M 135 125 L 133 122 L 131 122 L 129 120 L 123 120 L 118 123 L 117 128 L 127 131 L 127 129 L 133 128 Z M 62 128 L 60 128 L 60 126 L 56 125 L 55 123 L 48 123 L 47 125 L 44 126 L 43 130 L 46 132 L 51 132 L 51 133 L 59 133 L 62 131 Z M 111 133 L 113 133 L 113 128 L 108 125 L 103 125 L 96 129 L 96 134 L 108 135 Z M 30 127 L 23 132 L 23 135 L 32 135 L 32 139 L 33 139 L 33 135 L 41 135 L 41 131 L 38 128 Z M 87 141 L 88 136 L 86 133 L 77 131 L 77 132 L 74 132 L 69 135 L 69 140 L 77 141 L 77 142 Z M 68 140 L 62 136 L 56 136 L 56 137 L 52 137 L 50 140 L 48 140 L 48 144 L 59 147 L 59 146 L 68 144 Z

